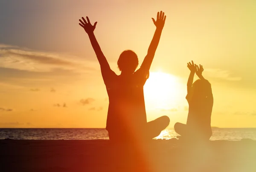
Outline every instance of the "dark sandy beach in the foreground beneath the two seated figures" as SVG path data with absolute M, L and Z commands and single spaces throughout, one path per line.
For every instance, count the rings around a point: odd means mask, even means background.
M 0 140 L 1 172 L 255 172 L 256 141 Z

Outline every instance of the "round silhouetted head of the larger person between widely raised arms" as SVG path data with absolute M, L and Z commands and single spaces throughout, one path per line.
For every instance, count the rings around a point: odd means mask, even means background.
M 121 72 L 134 73 L 139 64 L 138 56 L 131 50 L 123 51 L 117 61 L 117 66 Z

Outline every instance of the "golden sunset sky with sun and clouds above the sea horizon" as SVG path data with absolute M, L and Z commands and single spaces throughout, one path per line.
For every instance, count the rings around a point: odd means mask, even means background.
M 255 0 L 1 0 L 0 128 L 105 128 L 108 95 L 79 19 L 98 22 L 94 33 L 119 75 L 123 50 L 141 64 L 160 10 L 166 23 L 144 86 L 148 121 L 186 123 L 194 60 L 212 84 L 212 126 L 256 127 Z

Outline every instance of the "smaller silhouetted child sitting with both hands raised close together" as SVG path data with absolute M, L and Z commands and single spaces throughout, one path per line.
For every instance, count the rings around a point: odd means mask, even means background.
M 186 124 L 175 123 L 174 129 L 175 132 L 181 135 L 180 138 L 209 140 L 212 135 L 213 96 L 211 84 L 202 76 L 203 66 L 197 66 L 192 61 L 192 64 L 189 62 L 187 67 L 190 70 L 186 96 L 186 100 L 189 103 L 189 114 Z M 193 83 L 195 73 L 200 79 Z

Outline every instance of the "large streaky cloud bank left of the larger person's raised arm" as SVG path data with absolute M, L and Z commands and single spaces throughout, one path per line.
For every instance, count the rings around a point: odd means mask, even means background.
M 40 52 L 18 46 L 0 45 L 0 67 L 25 71 L 47 72 L 52 68 L 95 71 L 91 62 L 70 54 Z M 95 63 L 95 62 L 94 62 Z

